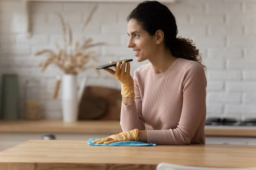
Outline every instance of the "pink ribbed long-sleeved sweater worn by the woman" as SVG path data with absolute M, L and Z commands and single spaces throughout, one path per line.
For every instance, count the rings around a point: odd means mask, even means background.
M 148 143 L 205 143 L 207 79 L 200 63 L 177 58 L 160 74 L 145 64 L 134 71 L 135 103 L 122 102 L 123 131 L 147 130 Z

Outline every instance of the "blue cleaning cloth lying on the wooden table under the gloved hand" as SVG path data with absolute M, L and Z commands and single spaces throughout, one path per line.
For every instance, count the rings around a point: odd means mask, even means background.
M 156 144 L 148 144 L 139 141 L 125 141 L 125 142 L 114 142 L 111 144 L 95 144 L 92 141 L 95 139 L 89 139 L 88 144 L 92 146 L 156 146 Z

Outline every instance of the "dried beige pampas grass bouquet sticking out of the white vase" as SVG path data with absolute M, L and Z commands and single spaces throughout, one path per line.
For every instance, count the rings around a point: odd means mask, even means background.
M 90 22 L 93 13 L 96 11 L 97 7 L 94 7 L 90 12 L 89 17 L 84 23 L 82 31 Z M 73 34 L 72 29 L 69 23 L 65 23 L 64 17 L 57 13 L 61 21 L 62 31 L 63 31 L 63 40 L 64 48 L 61 49 L 58 43 L 55 44 L 58 53 L 55 53 L 52 50 L 44 49 L 35 53 L 35 56 L 46 55 L 47 59 L 42 61 L 39 66 L 42 68 L 42 72 L 45 71 L 47 66 L 54 64 L 57 65 L 64 74 L 78 74 L 79 71 L 86 71 L 93 68 L 98 74 L 99 70 L 95 69 L 95 65 L 86 65 L 90 60 L 97 62 L 97 58 L 93 56 L 94 51 L 86 51 L 88 48 L 92 48 L 99 45 L 104 45 L 103 42 L 92 43 L 91 38 L 87 38 L 83 43 L 80 44 L 79 41 L 76 41 L 73 46 Z M 67 38 L 68 37 L 68 38 Z M 86 65 L 86 66 L 85 66 Z

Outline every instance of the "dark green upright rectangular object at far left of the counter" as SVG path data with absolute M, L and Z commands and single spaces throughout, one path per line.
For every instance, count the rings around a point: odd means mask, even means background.
M 17 74 L 3 74 L 1 119 L 17 120 L 19 118 L 19 85 Z

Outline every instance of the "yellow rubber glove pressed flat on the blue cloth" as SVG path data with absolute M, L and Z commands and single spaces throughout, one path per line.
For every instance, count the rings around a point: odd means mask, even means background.
M 138 134 L 139 134 L 139 130 L 134 129 L 128 132 L 121 132 L 116 135 L 111 135 L 102 139 L 96 139 L 96 140 L 93 140 L 92 142 L 96 144 L 111 144 L 114 142 L 138 141 L 139 140 Z

